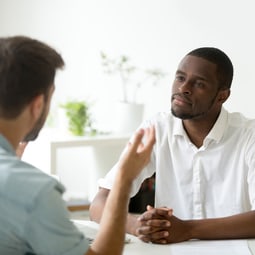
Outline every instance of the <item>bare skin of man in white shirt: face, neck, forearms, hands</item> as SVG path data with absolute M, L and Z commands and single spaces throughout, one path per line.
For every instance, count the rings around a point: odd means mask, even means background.
M 217 77 L 217 66 L 203 58 L 186 56 L 180 62 L 172 86 L 172 113 L 182 119 L 191 142 L 203 145 L 205 137 L 215 124 L 222 104 L 230 95 Z M 101 210 L 109 190 L 100 189 L 90 212 L 100 221 Z M 145 242 L 177 243 L 189 239 L 233 239 L 255 237 L 255 212 L 224 218 L 181 220 L 168 208 L 148 206 L 142 215 L 129 214 L 127 232 Z

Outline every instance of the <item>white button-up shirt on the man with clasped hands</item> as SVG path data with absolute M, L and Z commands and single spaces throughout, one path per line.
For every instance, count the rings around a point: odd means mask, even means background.
M 222 109 L 200 148 L 171 113 L 159 113 L 142 127 L 151 124 L 156 144 L 150 163 L 133 183 L 132 196 L 156 172 L 155 206 L 173 208 L 182 219 L 255 209 L 255 120 Z M 112 187 L 117 165 L 99 180 L 99 186 Z

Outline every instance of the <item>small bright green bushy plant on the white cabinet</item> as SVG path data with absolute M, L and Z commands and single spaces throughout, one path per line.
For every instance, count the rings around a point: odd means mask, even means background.
M 92 128 L 91 116 L 89 113 L 89 105 L 85 101 L 68 101 L 60 105 L 65 109 L 68 118 L 68 129 L 76 136 L 85 134 L 94 134 L 95 129 Z

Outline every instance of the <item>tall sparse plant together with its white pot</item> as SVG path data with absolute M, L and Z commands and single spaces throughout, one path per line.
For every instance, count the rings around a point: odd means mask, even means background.
M 143 118 L 144 104 L 138 100 L 138 91 L 143 86 L 157 86 L 167 73 L 159 68 L 142 69 L 134 66 L 126 55 L 111 58 L 101 52 L 103 71 L 109 75 L 117 75 L 122 86 L 120 103 L 115 108 L 115 132 L 130 133 L 138 127 Z

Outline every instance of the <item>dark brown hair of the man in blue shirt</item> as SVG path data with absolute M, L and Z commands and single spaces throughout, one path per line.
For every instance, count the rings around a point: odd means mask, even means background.
M 47 98 L 56 70 L 63 66 L 61 55 L 43 42 L 0 38 L 0 117 L 15 118 L 34 97 Z

